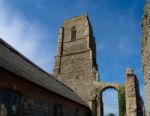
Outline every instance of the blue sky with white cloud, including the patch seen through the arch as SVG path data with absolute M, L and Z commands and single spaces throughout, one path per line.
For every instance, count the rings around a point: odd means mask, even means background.
M 63 20 L 88 13 L 96 38 L 100 80 L 124 83 L 125 69 L 132 67 L 144 96 L 140 25 L 145 1 L 0 0 L 0 37 L 51 73 Z M 117 92 L 107 90 L 103 96 L 105 114 L 118 115 Z

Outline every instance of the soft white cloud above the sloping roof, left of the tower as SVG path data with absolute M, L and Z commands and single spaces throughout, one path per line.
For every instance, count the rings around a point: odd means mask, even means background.
M 48 41 L 47 48 L 43 45 L 48 37 L 46 28 L 38 22 L 27 20 L 21 13 L 6 6 L 4 1 L 0 1 L 0 14 L 0 37 L 34 63 L 50 71 L 55 51 L 47 52 L 53 49 L 52 42 Z

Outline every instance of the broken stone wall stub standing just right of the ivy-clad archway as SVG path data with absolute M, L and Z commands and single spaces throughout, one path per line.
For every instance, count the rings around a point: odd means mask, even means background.
M 126 69 L 125 82 L 127 116 L 143 116 L 143 100 L 139 91 L 139 82 L 131 68 Z

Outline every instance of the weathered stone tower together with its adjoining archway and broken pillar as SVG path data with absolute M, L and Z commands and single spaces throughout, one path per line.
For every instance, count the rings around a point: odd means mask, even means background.
M 75 33 L 72 33 L 72 29 L 76 29 Z M 89 105 L 92 116 L 103 116 L 102 92 L 109 88 L 118 92 L 122 88 L 126 89 L 127 116 L 143 116 L 138 79 L 131 68 L 126 70 L 126 88 L 117 83 L 98 81 L 95 38 L 87 15 L 64 21 L 58 34 L 58 51 L 53 73 L 55 78 L 72 88 Z M 124 91 L 121 92 L 123 93 L 119 95 L 123 95 L 125 101 Z M 119 111 L 125 114 L 125 108 Z

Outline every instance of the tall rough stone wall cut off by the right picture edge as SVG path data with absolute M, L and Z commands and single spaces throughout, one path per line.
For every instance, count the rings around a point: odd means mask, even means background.
M 150 0 L 145 6 L 142 31 L 142 64 L 147 96 L 147 116 L 150 116 Z

